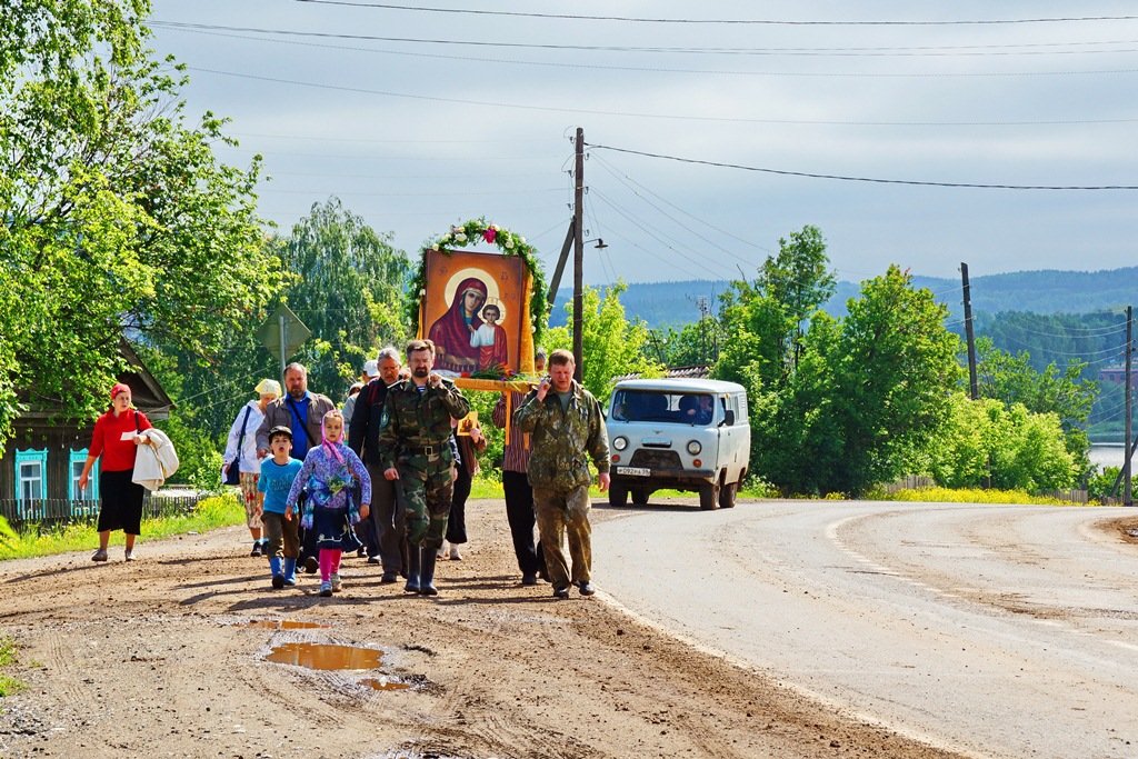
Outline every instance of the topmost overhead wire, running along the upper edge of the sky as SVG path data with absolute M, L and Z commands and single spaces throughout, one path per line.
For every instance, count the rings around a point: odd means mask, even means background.
M 632 22 L 637 24 L 729 24 L 764 26 L 990 26 L 1004 24 L 1053 24 L 1073 22 L 1133 20 L 1138 16 L 1056 16 L 1038 18 L 976 18 L 945 20 L 785 20 L 770 18 L 666 18 L 642 16 L 591 16 L 584 14 L 543 14 L 520 10 L 484 10 L 473 8 L 430 8 L 401 6 L 389 2 L 364 2 L 363 0 L 296 0 L 321 6 L 347 6 L 351 8 L 380 8 L 385 10 L 413 10 L 431 14 L 463 14 L 469 16 L 513 16 L 522 18 L 556 18 L 566 20 Z

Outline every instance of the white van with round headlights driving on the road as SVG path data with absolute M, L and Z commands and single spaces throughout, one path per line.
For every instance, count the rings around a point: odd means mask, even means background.
M 742 385 L 701 379 L 617 383 L 609 402 L 609 504 L 645 504 L 661 488 L 695 490 L 701 509 L 735 505 L 751 427 Z

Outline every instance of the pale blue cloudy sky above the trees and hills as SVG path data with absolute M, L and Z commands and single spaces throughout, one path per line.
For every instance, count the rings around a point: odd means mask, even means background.
M 150 24 L 189 113 L 232 119 L 220 157 L 263 156 L 284 234 L 331 196 L 410 255 L 484 216 L 549 274 L 582 127 L 586 284 L 752 278 L 806 224 L 848 281 L 1135 264 L 1138 189 L 943 187 L 1138 185 L 1133 3 L 156 0 Z

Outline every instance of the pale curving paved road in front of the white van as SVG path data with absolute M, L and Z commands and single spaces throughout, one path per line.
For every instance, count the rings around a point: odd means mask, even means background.
M 1138 757 L 1138 545 L 1118 508 L 648 506 L 597 520 L 618 603 L 777 680 L 986 757 Z

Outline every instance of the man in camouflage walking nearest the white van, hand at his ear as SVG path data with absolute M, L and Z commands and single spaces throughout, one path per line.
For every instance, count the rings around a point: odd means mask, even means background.
M 596 467 L 601 492 L 609 489 L 609 436 L 601 404 L 574 380 L 575 368 L 571 353 L 554 350 L 550 377 L 513 413 L 513 423 L 533 434 L 529 484 L 545 567 L 559 599 L 569 597 L 570 579 L 582 595 L 594 593 L 588 459 Z M 571 575 L 562 550 L 563 534 L 569 538 Z

